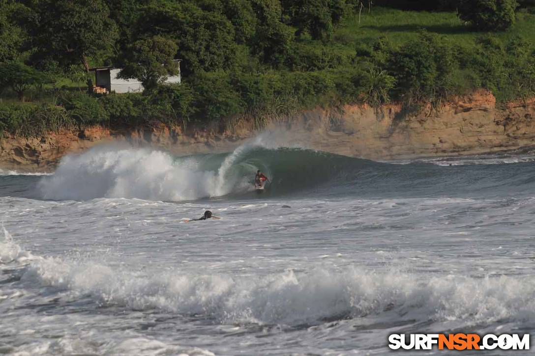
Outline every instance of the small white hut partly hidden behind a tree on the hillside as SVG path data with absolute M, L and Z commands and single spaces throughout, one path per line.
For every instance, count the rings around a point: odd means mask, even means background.
M 140 81 L 136 79 L 120 79 L 117 78 L 120 68 L 115 67 L 98 67 L 89 69 L 95 72 L 94 92 L 97 94 L 105 94 L 109 92 L 141 92 L 143 86 Z M 178 74 L 167 77 L 166 83 L 180 83 L 180 61 L 178 60 Z

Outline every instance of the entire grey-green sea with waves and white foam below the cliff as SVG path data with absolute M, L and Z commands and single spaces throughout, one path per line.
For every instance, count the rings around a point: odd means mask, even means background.
M 384 354 L 389 334 L 535 328 L 533 156 L 262 141 L 0 172 L 0 353 Z

